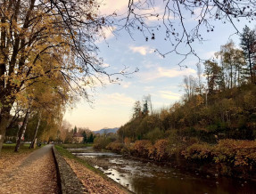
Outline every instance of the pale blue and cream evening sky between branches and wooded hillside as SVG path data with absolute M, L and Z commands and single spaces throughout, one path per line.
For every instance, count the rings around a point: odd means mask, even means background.
M 105 5 L 100 11 L 105 14 L 115 11 L 125 12 L 127 2 L 105 0 L 103 2 Z M 156 4 L 153 13 L 155 12 L 163 12 L 161 4 Z M 159 21 L 148 22 L 156 24 Z M 188 16 L 185 24 L 187 28 L 191 28 L 196 22 L 198 20 Z M 205 41 L 202 44 L 193 44 L 195 52 L 204 60 L 213 57 L 213 54 L 219 51 L 220 45 L 227 44 L 229 38 L 233 39 L 237 46 L 239 45 L 239 37 L 231 36 L 235 33 L 235 28 L 228 23 L 223 24 L 219 21 L 213 23 L 215 24 L 213 32 L 202 31 Z M 250 24 L 247 20 L 240 21 L 236 25 L 241 31 L 244 25 L 254 27 L 254 24 Z M 125 125 L 132 116 L 135 101 L 142 101 L 145 95 L 151 95 L 155 110 L 168 108 L 174 102 L 180 101 L 184 94 L 183 78 L 189 75 L 196 77 L 197 59 L 193 56 L 188 57 L 182 63 L 185 68 L 178 65 L 182 58 L 175 53 L 170 53 L 165 58 L 154 53 L 155 49 L 166 53 L 172 48 L 169 41 L 164 40 L 162 30 L 156 33 L 155 40 L 149 41 L 145 41 L 145 37 L 139 31 L 133 31 L 131 38 L 125 30 L 117 32 L 118 35 L 106 30 L 106 39 L 96 44 L 100 48 L 99 56 L 103 58 L 104 66 L 109 67 L 107 70 L 119 72 L 123 67 L 128 67 L 130 72 L 136 68 L 139 71 L 128 77 L 120 77 L 120 84 L 110 84 L 105 81 L 104 86 L 96 85 L 95 91 L 90 93 L 94 102 L 88 103 L 81 99 L 73 109 L 67 109 L 64 119 L 73 126 L 88 127 L 95 131 L 104 127 Z M 180 49 L 186 50 L 187 47 Z

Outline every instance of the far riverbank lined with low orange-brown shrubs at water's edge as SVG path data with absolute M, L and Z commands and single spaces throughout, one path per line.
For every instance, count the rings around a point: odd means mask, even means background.
M 221 140 L 217 144 L 161 139 L 123 144 L 111 142 L 108 150 L 203 174 L 256 180 L 256 141 Z

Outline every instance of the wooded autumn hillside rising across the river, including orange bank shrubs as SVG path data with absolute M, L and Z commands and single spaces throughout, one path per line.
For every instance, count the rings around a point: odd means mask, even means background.
M 118 137 L 97 137 L 95 148 L 156 161 L 186 158 L 215 164 L 220 174 L 252 175 L 256 166 L 255 43 L 255 29 L 245 27 L 239 48 L 228 41 L 214 59 L 204 61 L 203 68 L 197 66 L 197 77 L 184 77 L 182 100 L 153 110 L 150 95 L 145 96 L 135 102 L 132 118 L 120 127 Z

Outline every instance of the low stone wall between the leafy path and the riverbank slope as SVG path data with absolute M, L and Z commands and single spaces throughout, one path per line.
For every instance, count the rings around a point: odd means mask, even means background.
M 64 158 L 55 150 L 53 146 L 54 162 L 57 170 L 57 179 L 62 194 L 82 194 L 85 193 L 82 182 L 78 180 Z

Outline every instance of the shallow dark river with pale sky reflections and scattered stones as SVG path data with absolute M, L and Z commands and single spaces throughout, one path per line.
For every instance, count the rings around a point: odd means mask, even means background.
M 169 166 L 124 158 L 111 152 L 92 148 L 70 149 L 79 158 L 86 159 L 115 182 L 135 193 L 241 193 L 256 194 L 256 182 L 184 172 Z

